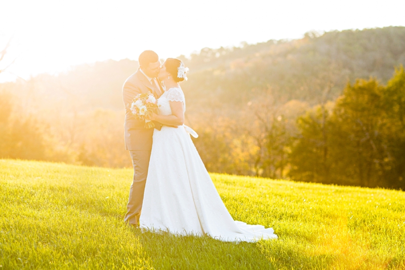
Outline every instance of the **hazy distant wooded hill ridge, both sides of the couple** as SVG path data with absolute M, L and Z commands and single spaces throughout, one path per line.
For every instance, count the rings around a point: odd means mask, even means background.
M 315 104 L 322 95 L 335 99 L 356 78 L 375 76 L 385 83 L 394 66 L 405 64 L 405 27 L 310 32 L 300 40 L 204 48 L 180 58 L 190 67 L 189 80 L 182 85 L 189 108 L 213 98 L 238 107 L 268 88 L 282 102 Z M 12 89 L 21 97 L 41 96 L 38 102 L 44 104 L 74 101 L 79 110 L 118 110 L 123 108 L 121 87 L 137 67 L 137 61 L 129 59 L 108 60 L 2 84 L 0 89 Z

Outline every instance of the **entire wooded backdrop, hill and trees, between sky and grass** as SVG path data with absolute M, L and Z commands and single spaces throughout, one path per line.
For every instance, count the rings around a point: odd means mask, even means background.
M 405 187 L 405 27 L 180 58 L 186 124 L 209 171 Z M 137 67 L 109 60 L 0 84 L 0 158 L 131 167 L 121 86 Z

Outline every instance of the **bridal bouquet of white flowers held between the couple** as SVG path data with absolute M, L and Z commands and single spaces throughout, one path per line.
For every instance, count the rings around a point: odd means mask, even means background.
M 140 120 L 145 121 L 145 128 L 154 128 L 155 124 L 152 121 L 147 120 L 146 117 L 152 114 L 157 109 L 156 98 L 148 92 L 147 94 L 138 94 L 132 100 L 131 111 Z

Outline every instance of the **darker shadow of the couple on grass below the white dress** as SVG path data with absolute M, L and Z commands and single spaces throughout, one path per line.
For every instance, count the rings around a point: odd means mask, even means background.
M 236 244 L 141 229 L 133 232 L 156 269 L 275 269 L 257 243 Z

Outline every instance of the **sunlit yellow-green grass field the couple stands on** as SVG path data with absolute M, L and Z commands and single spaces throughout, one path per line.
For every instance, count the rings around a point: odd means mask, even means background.
M 141 233 L 123 223 L 132 170 L 0 160 L 0 269 L 405 269 L 405 192 L 211 176 L 279 239 Z

